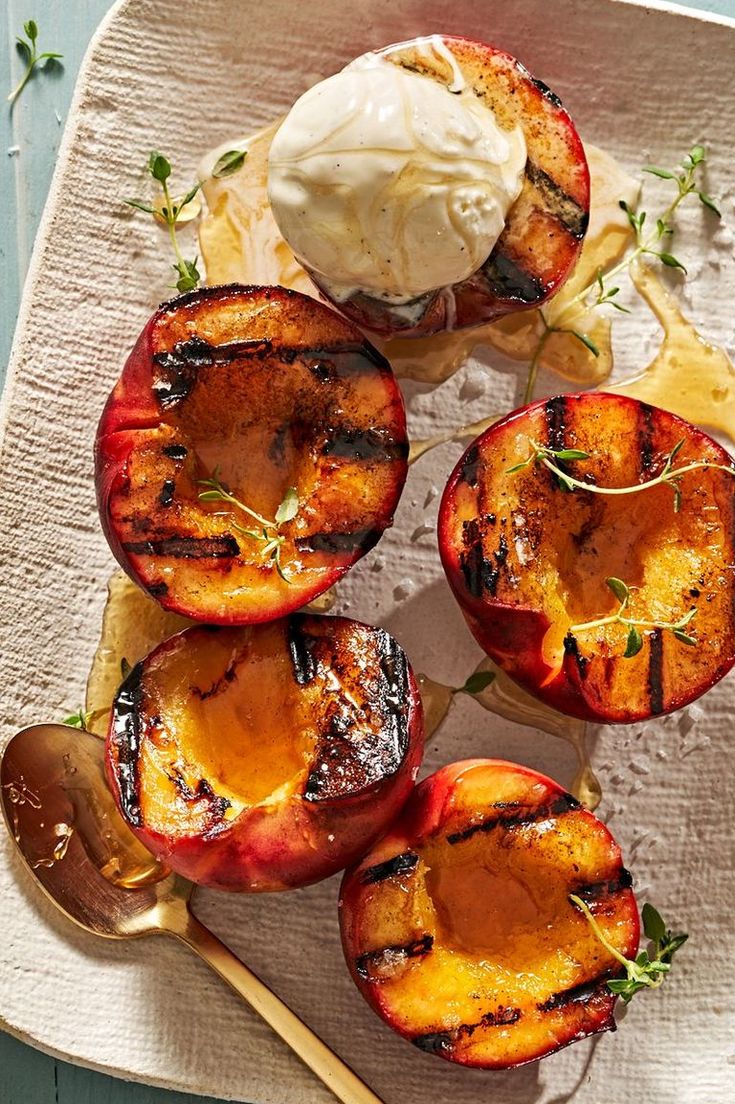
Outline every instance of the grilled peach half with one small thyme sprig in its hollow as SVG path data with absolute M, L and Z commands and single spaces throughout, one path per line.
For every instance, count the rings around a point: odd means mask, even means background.
M 99 513 L 166 609 L 270 620 L 375 544 L 407 450 L 391 368 L 350 322 L 284 288 L 205 288 L 153 315 L 107 402 Z

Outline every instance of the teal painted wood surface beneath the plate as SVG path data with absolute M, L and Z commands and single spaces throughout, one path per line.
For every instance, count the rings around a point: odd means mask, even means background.
M 74 81 L 87 43 L 111 0 L 6 0 L 0 13 L 0 89 L 3 96 L 23 66 L 14 47 L 25 20 L 35 19 L 41 50 L 64 54 L 40 72 L 12 110 L 0 108 L 0 386 L 18 315 L 20 293 L 45 202 Z M 674 0 L 679 2 L 679 0 Z M 735 0 L 690 0 L 690 7 L 735 18 Z M 92 1073 L 25 1047 L 0 1032 L 0 1104 L 207 1104 L 201 1096 L 168 1093 Z M 210 1102 L 216 1104 L 216 1102 Z

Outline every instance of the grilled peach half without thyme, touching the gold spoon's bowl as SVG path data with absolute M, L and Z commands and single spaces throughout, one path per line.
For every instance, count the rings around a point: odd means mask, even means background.
M 292 614 L 195 625 L 120 687 L 107 773 L 173 870 L 224 890 L 291 889 L 354 862 L 406 800 L 420 698 L 383 629 Z

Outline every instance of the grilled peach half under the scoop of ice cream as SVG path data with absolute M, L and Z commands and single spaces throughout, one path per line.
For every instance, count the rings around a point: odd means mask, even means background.
M 381 335 L 424 336 L 493 321 L 539 307 L 571 273 L 589 217 L 589 170 L 582 140 L 562 102 L 510 54 L 484 42 L 443 36 L 475 95 L 507 130 L 523 129 L 528 161 L 521 194 L 482 267 L 466 280 L 400 306 L 354 294 L 338 306 Z M 456 77 L 425 40 L 379 51 L 395 65 L 450 85 Z M 329 288 L 319 284 L 322 294 Z

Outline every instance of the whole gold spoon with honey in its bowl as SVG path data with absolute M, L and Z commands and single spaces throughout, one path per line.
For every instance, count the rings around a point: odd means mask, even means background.
M 13 736 L 0 761 L 6 822 L 57 909 L 87 932 L 175 935 L 263 1017 L 343 1104 L 380 1098 L 190 909 L 193 885 L 136 839 L 104 775 L 104 743 L 63 724 Z

